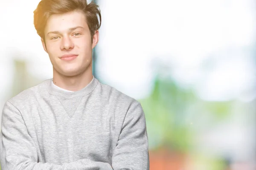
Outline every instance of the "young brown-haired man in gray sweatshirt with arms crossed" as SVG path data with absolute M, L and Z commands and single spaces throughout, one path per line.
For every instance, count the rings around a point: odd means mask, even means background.
M 9 99 L 0 133 L 2 170 L 148 170 L 137 100 L 92 74 L 101 14 L 86 0 L 42 0 L 34 24 L 53 78 Z

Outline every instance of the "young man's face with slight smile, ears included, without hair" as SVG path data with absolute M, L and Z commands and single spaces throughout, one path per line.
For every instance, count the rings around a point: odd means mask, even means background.
M 44 30 L 44 50 L 49 54 L 53 71 L 64 76 L 76 76 L 92 67 L 92 49 L 99 32 L 91 40 L 86 18 L 81 11 L 53 14 Z

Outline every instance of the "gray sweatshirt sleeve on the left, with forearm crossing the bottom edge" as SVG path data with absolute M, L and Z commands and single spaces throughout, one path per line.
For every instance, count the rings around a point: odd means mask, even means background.
M 0 133 L 0 164 L 2 170 L 113 170 L 105 162 L 80 159 L 71 163 L 38 162 L 35 144 L 29 136 L 20 112 L 10 102 L 3 107 Z

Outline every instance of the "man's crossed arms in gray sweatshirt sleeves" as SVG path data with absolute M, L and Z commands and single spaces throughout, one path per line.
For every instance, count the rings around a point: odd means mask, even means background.
M 140 103 L 131 105 L 126 113 L 112 165 L 80 159 L 70 163 L 38 162 L 35 144 L 29 136 L 20 112 L 6 102 L 0 133 L 0 164 L 2 170 L 149 170 L 148 137 L 145 115 Z

